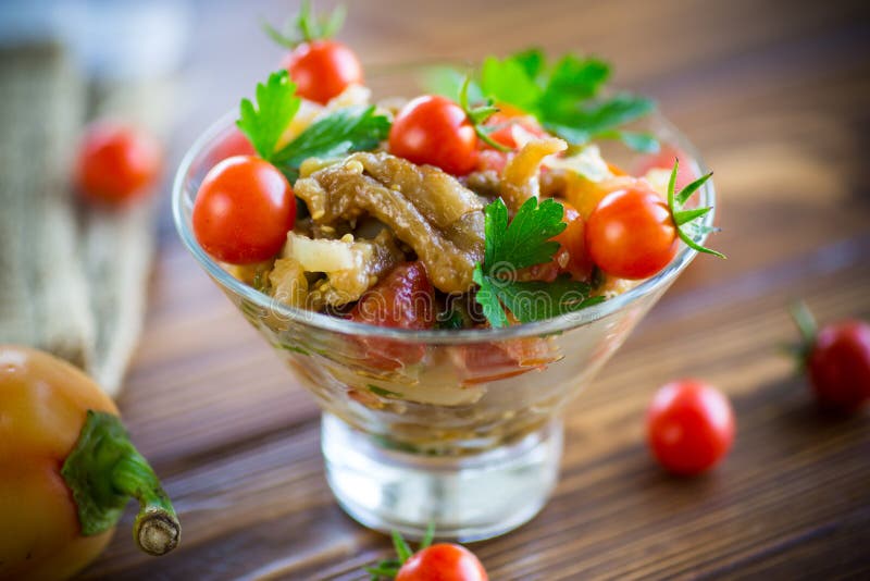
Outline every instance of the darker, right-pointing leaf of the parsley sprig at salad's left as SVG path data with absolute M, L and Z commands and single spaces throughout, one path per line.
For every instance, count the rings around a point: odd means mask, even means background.
M 389 125 L 386 116 L 375 113 L 374 106 L 338 109 L 306 127 L 272 156 L 272 162 L 293 181 L 309 158 L 337 158 L 374 149 L 387 138 Z

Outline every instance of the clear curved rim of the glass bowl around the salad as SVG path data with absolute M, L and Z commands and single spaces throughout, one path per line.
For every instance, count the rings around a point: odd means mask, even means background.
M 200 158 L 200 156 L 210 149 L 210 147 L 213 145 L 212 141 L 216 137 L 221 136 L 232 127 L 236 118 L 237 111 L 235 109 L 222 115 L 194 141 L 194 145 L 185 153 L 173 181 L 173 219 L 175 222 L 175 227 L 178 231 L 178 235 L 184 245 L 187 247 L 190 254 L 194 255 L 194 258 L 199 262 L 200 267 L 202 267 L 206 272 L 215 280 L 215 282 L 217 282 L 223 288 L 231 290 L 236 296 L 249 300 L 260 308 L 277 312 L 277 314 L 286 320 L 302 323 L 304 325 L 313 326 L 323 331 L 336 332 L 346 335 L 383 337 L 410 343 L 426 344 L 500 342 L 506 339 L 558 334 L 609 317 L 610 314 L 613 314 L 617 311 L 630 306 L 635 300 L 658 290 L 662 286 L 667 286 L 688 265 L 688 263 L 698 254 L 696 250 L 681 243 L 676 256 L 663 270 L 649 279 L 641 281 L 637 285 L 633 286 L 621 295 L 609 298 L 598 305 L 587 307 L 576 312 L 561 314 L 543 321 L 515 324 L 498 329 L 433 329 L 424 331 L 391 329 L 371 325 L 368 323 L 358 323 L 348 319 L 341 319 L 307 309 L 290 307 L 289 305 L 279 302 L 273 297 L 270 297 L 269 295 L 248 286 L 226 272 L 217 263 L 217 261 L 212 259 L 199 245 L 191 230 L 191 221 L 189 215 L 185 215 L 184 212 L 185 209 L 188 209 L 189 214 L 189 211 L 192 210 L 192 199 L 188 200 L 188 197 L 185 196 L 187 193 L 186 182 L 191 166 Z M 671 141 L 676 143 L 680 149 L 689 156 L 694 162 L 694 165 L 699 171 L 699 175 L 709 173 L 707 165 L 704 163 L 704 160 L 695 146 L 679 129 L 676 129 L 672 123 L 670 123 L 661 113 L 659 113 L 658 110 L 651 113 L 650 120 L 661 126 L 661 129 L 659 131 L 660 134 L 668 134 L 671 137 Z M 716 214 L 716 190 L 712 180 L 708 180 L 705 183 L 705 185 L 699 189 L 699 194 L 704 203 L 712 208 L 712 210 L 704 217 L 704 225 L 712 226 Z M 695 240 L 703 245 L 706 238 L 707 234 L 705 233 L 696 237 Z

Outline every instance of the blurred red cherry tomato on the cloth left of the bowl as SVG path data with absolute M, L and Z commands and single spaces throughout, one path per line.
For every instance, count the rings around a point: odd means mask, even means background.
M 124 202 L 154 184 L 162 158 L 152 136 L 121 123 L 96 123 L 86 129 L 79 146 L 76 185 L 90 201 Z

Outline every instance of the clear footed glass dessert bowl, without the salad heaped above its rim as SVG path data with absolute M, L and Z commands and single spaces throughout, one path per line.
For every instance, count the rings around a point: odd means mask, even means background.
M 370 86 L 377 96 L 413 95 L 415 81 L 399 67 L 374 75 Z M 191 227 L 199 186 L 235 119 L 209 128 L 182 162 L 175 223 L 200 265 L 323 409 L 326 478 L 338 503 L 366 527 L 410 537 L 434 523 L 439 536 L 482 540 L 530 520 L 557 482 L 566 404 L 697 252 L 681 245 L 658 274 L 598 305 L 500 329 L 389 329 L 290 307 L 234 277 Z M 706 173 L 694 147 L 660 115 L 642 128 Z M 608 152 L 623 166 L 633 156 L 617 145 Z M 699 206 L 714 205 L 711 181 L 698 197 Z M 710 212 L 703 224 L 712 220 Z

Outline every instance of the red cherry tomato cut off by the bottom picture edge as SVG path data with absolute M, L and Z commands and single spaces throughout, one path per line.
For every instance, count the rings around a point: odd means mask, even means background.
M 488 581 L 486 569 L 468 548 L 438 543 L 415 553 L 399 569 L 396 581 Z

